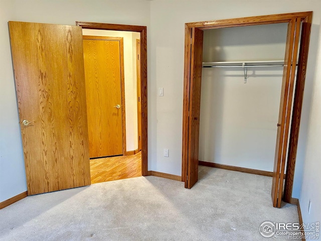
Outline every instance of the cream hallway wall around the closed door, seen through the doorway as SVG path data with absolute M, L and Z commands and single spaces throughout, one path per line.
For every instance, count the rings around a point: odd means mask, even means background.
M 126 151 L 138 149 L 137 135 L 137 76 L 136 76 L 136 36 L 140 33 L 128 31 L 109 31 L 83 29 L 83 35 L 122 37 L 124 47 L 124 79 L 125 79 L 125 113 L 126 113 Z

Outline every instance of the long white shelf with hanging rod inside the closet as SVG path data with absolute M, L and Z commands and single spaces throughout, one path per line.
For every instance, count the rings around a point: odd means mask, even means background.
M 244 68 L 284 66 L 284 60 L 203 62 L 203 68 Z

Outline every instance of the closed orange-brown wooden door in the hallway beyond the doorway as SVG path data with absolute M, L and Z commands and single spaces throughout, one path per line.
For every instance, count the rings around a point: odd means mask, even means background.
M 83 36 L 83 46 L 89 156 L 122 155 L 125 134 L 122 38 Z

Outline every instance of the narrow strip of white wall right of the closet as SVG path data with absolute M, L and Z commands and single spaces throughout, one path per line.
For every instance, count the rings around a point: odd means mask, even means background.
M 321 33 L 321 28 L 320 28 Z M 319 48 L 316 65 L 321 66 L 321 34 L 318 38 Z M 308 132 L 302 189 L 300 195 L 300 208 L 303 222 L 313 223 L 321 221 L 321 68 L 316 69 L 311 100 L 311 112 L 309 115 Z M 311 200 L 310 214 L 308 214 L 308 202 Z M 307 239 L 309 240 L 309 239 Z M 311 239 L 312 240 L 312 239 Z

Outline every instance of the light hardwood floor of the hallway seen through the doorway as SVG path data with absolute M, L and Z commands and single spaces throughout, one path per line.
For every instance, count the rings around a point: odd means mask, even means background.
M 90 160 L 91 184 L 141 176 L 141 152 Z

